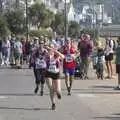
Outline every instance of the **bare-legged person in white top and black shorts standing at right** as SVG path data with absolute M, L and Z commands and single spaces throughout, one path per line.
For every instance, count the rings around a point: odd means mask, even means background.
M 106 39 L 106 45 L 105 45 L 105 61 L 106 61 L 106 67 L 107 67 L 107 79 L 112 78 L 113 75 L 113 68 L 112 68 L 112 60 L 113 60 L 113 47 L 114 42 L 110 38 Z

